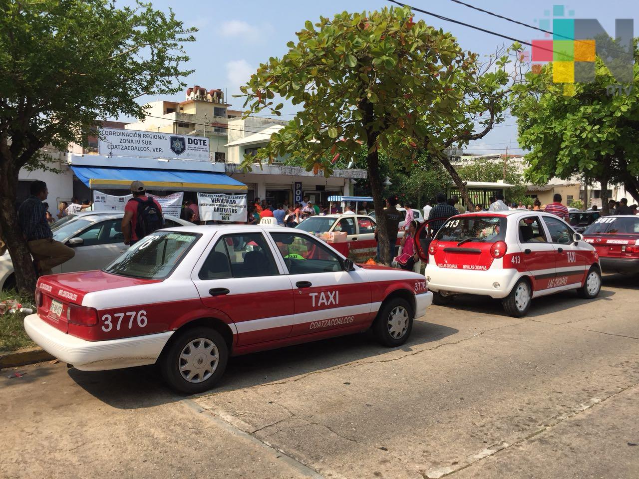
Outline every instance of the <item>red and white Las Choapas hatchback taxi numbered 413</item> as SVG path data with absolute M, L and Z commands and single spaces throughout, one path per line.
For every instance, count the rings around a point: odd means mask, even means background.
M 426 280 L 436 304 L 457 293 L 502 298 L 521 317 L 530 300 L 576 289 L 594 298 L 601 289 L 595 248 L 563 220 L 541 211 L 466 213 L 450 218 L 428 244 L 416 236 L 426 259 Z M 424 250 L 427 248 L 427 252 Z

